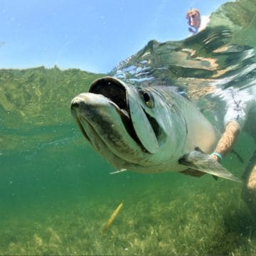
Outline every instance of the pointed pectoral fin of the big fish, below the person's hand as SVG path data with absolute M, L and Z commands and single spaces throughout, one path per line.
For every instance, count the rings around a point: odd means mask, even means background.
M 212 157 L 207 154 L 203 154 L 201 151 L 191 151 L 190 153 L 179 159 L 179 163 L 189 166 L 192 169 L 198 171 L 203 171 L 207 174 L 212 174 L 213 176 L 218 176 L 221 178 L 227 178 L 231 181 L 240 181 L 239 178 L 231 174 L 227 169 L 225 169 L 218 161 L 215 161 Z

